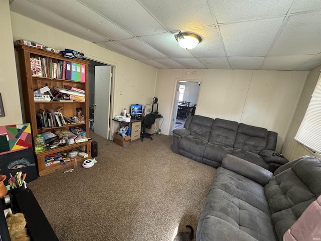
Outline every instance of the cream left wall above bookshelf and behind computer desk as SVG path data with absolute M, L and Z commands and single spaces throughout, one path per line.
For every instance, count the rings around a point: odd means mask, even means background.
M 120 114 L 124 107 L 129 108 L 132 103 L 152 102 L 157 74 L 156 68 L 15 12 L 10 12 L 10 14 L 13 40 L 26 39 L 55 49 L 73 49 L 84 53 L 88 59 L 114 65 L 115 92 L 112 101 L 112 116 Z M 14 72 L 16 72 L 16 69 Z M 116 124 L 113 125 L 112 122 L 112 132 L 118 128 L 118 123 Z

